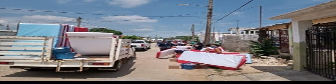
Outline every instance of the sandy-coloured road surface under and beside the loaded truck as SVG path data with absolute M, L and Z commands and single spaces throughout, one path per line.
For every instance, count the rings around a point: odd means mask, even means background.
M 118 72 L 88 70 L 84 72 L 55 72 L 10 70 L 0 67 L 0 81 L 206 81 L 200 70 L 168 69 L 169 59 L 155 59 L 157 47 L 137 52 L 137 59 L 129 60 Z

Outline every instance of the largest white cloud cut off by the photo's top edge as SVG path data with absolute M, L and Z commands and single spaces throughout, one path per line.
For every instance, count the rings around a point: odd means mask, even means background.
M 110 5 L 121 5 L 123 8 L 133 8 L 149 3 L 152 0 L 112 0 Z

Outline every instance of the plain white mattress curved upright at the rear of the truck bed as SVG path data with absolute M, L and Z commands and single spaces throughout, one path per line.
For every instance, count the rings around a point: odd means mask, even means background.
M 67 32 L 69 37 L 113 37 L 113 33 Z M 112 38 L 69 38 L 70 45 L 80 55 L 109 56 Z

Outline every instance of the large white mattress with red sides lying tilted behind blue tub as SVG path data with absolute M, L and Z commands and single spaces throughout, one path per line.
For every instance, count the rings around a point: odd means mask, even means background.
M 227 70 L 238 70 L 239 67 L 241 67 L 246 62 L 244 56 L 193 51 L 184 51 L 178 60 L 203 63 Z

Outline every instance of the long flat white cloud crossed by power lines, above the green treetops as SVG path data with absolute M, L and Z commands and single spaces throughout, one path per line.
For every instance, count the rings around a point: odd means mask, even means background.
M 104 20 L 109 20 L 109 21 L 116 21 L 116 20 L 131 20 L 131 21 L 127 21 L 127 22 L 158 22 L 159 20 L 157 19 L 149 19 L 149 17 L 142 17 L 142 16 L 108 16 L 108 17 L 101 17 Z M 141 20 L 138 20 L 141 19 Z

